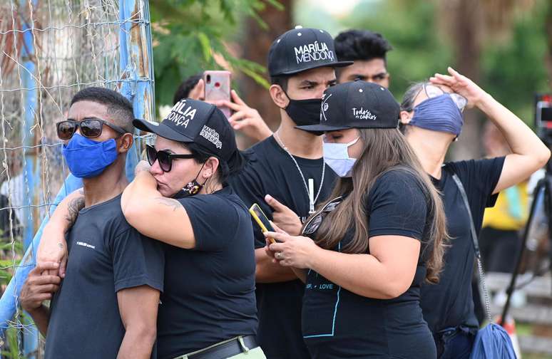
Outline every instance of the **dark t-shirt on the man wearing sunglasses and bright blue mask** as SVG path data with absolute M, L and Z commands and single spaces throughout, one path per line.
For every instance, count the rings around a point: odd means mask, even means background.
M 78 212 L 67 246 L 46 358 L 116 358 L 125 335 L 117 292 L 143 285 L 163 291 L 163 249 L 126 222 L 121 195 Z

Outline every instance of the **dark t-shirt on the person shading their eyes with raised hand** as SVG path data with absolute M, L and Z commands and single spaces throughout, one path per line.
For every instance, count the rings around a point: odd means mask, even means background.
M 434 333 L 446 328 L 467 326 L 478 328 L 471 295 L 471 277 L 475 252 L 471 240 L 469 214 L 464 207 L 451 172 L 461 180 L 470 204 L 471 215 L 479 235 L 485 207 L 493 207 L 497 195 L 492 192 L 499 181 L 504 157 L 446 163 L 441 179 L 433 179 L 441 191 L 449 231 L 450 244 L 444 255 L 444 268 L 438 284 L 424 285 L 421 308 Z

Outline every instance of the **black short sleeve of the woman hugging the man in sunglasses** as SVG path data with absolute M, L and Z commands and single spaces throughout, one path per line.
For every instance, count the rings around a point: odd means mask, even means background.
M 183 205 L 195 236 L 196 251 L 222 251 L 234 238 L 238 214 L 235 207 L 216 194 L 178 199 Z

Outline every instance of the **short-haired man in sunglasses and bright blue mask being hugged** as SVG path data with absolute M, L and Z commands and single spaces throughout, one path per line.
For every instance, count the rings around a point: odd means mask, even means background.
M 63 157 L 83 188 L 58 204 L 21 288 L 21 306 L 46 336 L 45 358 L 145 359 L 153 351 L 163 249 L 121 211 L 133 119 L 123 95 L 85 88 L 56 124 Z

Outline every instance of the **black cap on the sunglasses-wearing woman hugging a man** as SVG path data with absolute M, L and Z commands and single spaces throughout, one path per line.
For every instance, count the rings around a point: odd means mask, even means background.
M 227 162 L 237 151 L 234 130 L 223 112 L 200 100 L 178 101 L 161 123 L 133 120 L 133 125 L 168 140 L 194 142 Z

